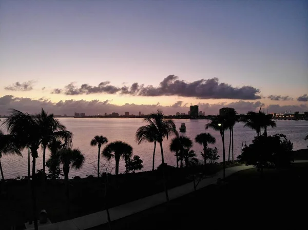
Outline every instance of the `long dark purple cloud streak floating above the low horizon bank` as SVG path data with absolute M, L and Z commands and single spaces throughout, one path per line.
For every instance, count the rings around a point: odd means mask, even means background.
M 139 85 L 135 82 L 131 86 L 121 88 L 110 85 L 110 81 L 103 81 L 98 86 L 83 84 L 80 88 L 71 82 L 64 89 L 54 89 L 54 94 L 79 95 L 79 94 L 123 94 L 133 96 L 182 96 L 196 97 L 199 99 L 260 99 L 257 95 L 260 90 L 252 86 L 233 87 L 224 82 L 219 82 L 218 78 L 201 79 L 192 82 L 179 80 L 175 75 L 164 78 L 158 87 Z

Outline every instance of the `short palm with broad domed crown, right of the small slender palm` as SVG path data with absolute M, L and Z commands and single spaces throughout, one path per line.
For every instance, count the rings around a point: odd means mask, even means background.
M 132 155 L 132 147 L 123 141 L 114 141 L 106 145 L 102 154 L 107 160 L 115 159 L 115 175 L 118 175 L 120 158 L 122 157 L 127 162 L 128 158 Z

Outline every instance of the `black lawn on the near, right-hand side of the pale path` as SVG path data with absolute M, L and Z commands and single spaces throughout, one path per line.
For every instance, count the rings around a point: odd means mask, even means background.
M 238 172 L 220 185 L 112 222 L 112 229 L 297 229 L 306 225 L 308 164 Z M 111 216 L 112 219 L 112 216 Z M 91 230 L 109 229 L 108 224 Z

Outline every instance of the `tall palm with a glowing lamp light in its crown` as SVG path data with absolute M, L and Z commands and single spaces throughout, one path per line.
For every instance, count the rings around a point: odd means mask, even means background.
M 205 125 L 205 129 L 213 129 L 219 131 L 222 139 L 222 156 L 223 156 L 223 178 L 225 178 L 225 168 L 226 168 L 226 153 L 225 153 L 225 144 L 224 144 L 224 131 L 228 129 L 228 123 L 225 117 L 217 116 L 209 123 Z

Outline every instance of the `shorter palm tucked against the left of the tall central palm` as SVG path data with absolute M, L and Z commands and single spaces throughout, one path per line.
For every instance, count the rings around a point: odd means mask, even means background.
M 142 142 L 154 142 L 154 151 L 153 151 L 153 163 L 152 163 L 152 171 L 154 171 L 154 163 L 155 163 L 155 150 L 156 150 L 156 142 L 157 142 L 157 128 L 154 123 L 147 124 L 146 126 L 139 127 L 136 132 L 136 142 L 138 144 Z

